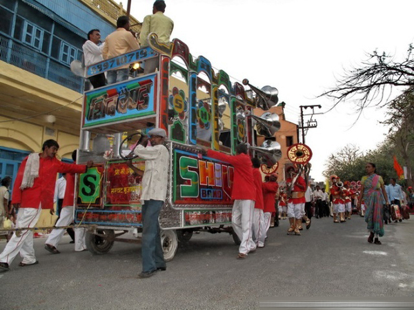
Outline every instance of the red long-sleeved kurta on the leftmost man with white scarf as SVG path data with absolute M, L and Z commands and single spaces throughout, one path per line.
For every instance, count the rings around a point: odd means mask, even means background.
M 12 194 L 12 204 L 20 203 L 21 208 L 39 209 L 39 204 L 41 204 L 42 209 L 52 209 L 57 174 L 59 172 L 66 174 L 86 172 L 86 165 L 62 163 L 56 157 L 39 158 L 39 177 L 34 179 L 32 187 L 21 190 L 21 181 L 27 161 L 28 158 L 24 158 L 19 167 Z

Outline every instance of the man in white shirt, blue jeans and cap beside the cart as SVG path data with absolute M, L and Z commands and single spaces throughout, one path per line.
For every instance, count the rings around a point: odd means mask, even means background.
M 161 270 L 167 269 L 161 246 L 161 234 L 159 228 L 159 211 L 166 200 L 168 187 L 168 168 L 170 155 L 164 146 L 166 131 L 154 128 L 148 132 L 148 137 L 134 149 L 135 155 L 145 159 L 145 171 L 142 171 L 127 161 L 136 174 L 142 176 L 142 272 L 139 278 L 149 278 Z M 148 145 L 147 145 L 148 144 Z

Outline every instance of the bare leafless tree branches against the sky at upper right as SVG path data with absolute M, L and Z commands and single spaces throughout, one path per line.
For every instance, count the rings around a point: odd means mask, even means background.
M 405 93 L 414 85 L 413 45 L 408 48 L 406 59 L 394 61 L 394 57 L 377 51 L 368 54 L 359 68 L 352 68 L 337 80 L 337 85 L 321 96 L 335 100 L 334 107 L 353 99 L 360 115 L 365 107 L 384 106 L 391 103 L 391 92 L 398 87 Z M 408 91 L 409 92 L 409 91 Z

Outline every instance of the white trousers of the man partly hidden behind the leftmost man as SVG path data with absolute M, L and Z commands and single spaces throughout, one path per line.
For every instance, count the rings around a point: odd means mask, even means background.
M 60 218 L 56 223 L 56 226 L 68 226 L 70 223 L 73 222 L 73 212 L 75 207 L 63 207 L 61 209 Z M 86 236 L 86 229 L 85 228 L 75 228 L 75 251 L 83 251 L 86 249 L 85 245 L 85 236 Z M 59 242 L 65 234 L 66 229 L 58 229 L 55 228 L 49 235 L 48 240 L 46 240 L 45 244 L 52 245 L 53 247 L 57 247 Z

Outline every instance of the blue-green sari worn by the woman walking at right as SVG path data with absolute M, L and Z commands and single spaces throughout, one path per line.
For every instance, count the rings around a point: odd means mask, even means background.
M 372 174 L 362 178 L 364 185 L 365 221 L 367 229 L 380 237 L 384 236 L 384 220 L 382 218 L 385 199 L 381 192 L 380 176 Z

